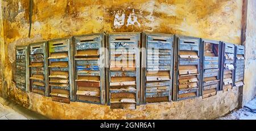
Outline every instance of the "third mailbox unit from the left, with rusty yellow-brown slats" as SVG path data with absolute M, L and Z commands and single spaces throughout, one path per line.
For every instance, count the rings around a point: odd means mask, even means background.
M 48 41 L 49 87 L 52 100 L 69 103 L 74 98 L 72 37 Z

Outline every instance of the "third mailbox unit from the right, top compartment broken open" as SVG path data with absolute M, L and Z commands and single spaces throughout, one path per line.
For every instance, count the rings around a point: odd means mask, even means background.
M 220 85 L 220 41 L 201 43 L 201 94 L 208 98 L 217 94 Z

